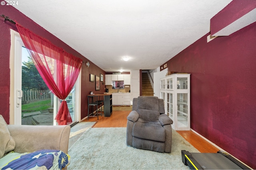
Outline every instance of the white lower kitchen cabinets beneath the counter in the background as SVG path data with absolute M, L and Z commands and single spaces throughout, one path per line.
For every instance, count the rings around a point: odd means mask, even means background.
M 131 105 L 130 93 L 112 93 L 112 105 Z

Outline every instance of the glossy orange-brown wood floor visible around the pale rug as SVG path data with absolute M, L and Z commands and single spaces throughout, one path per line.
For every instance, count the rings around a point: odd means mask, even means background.
M 120 110 L 122 108 L 114 108 L 115 110 Z M 94 128 L 96 127 L 126 127 L 127 116 L 130 111 L 113 111 L 110 117 L 99 116 L 99 120 L 97 117 L 89 117 L 88 121 L 97 122 L 94 124 Z M 87 121 L 84 120 L 85 122 Z M 216 153 L 219 149 L 202 139 L 196 133 L 192 131 L 177 131 L 186 141 L 188 141 L 191 145 L 193 145 L 200 152 L 205 153 Z M 189 150 L 188 150 L 189 151 Z

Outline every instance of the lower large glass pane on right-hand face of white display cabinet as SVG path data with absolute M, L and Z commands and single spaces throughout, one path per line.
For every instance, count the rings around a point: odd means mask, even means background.
M 188 127 L 188 94 L 177 93 L 177 127 Z

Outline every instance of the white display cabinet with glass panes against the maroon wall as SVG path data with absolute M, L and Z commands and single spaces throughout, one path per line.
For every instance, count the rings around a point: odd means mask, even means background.
M 190 74 L 171 74 L 160 78 L 160 98 L 164 99 L 165 114 L 172 128 L 190 130 Z

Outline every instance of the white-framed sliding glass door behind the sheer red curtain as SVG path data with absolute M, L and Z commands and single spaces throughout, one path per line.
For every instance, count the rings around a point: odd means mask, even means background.
M 56 125 L 60 100 L 42 80 L 19 33 L 12 30 L 11 39 L 10 124 Z M 80 76 L 66 98 L 72 123 L 78 121 L 79 91 Z

